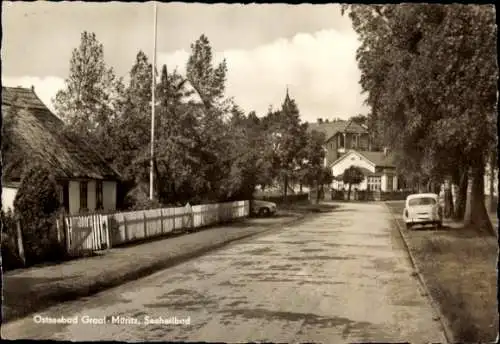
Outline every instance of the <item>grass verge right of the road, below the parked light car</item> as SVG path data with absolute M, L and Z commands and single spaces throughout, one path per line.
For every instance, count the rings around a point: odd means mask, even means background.
M 406 230 L 403 202 L 386 203 L 454 342 L 495 342 L 498 334 L 497 239 L 475 228 Z

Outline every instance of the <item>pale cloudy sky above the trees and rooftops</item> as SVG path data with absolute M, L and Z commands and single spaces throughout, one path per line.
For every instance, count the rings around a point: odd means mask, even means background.
M 3 2 L 2 85 L 35 87 L 49 108 L 68 77 L 83 31 L 127 78 L 139 50 L 153 57 L 149 3 Z M 259 116 L 279 108 L 286 88 L 304 121 L 366 114 L 355 59 L 359 41 L 340 5 L 158 3 L 157 66 L 185 74 L 191 44 L 205 34 L 227 61 L 227 96 Z

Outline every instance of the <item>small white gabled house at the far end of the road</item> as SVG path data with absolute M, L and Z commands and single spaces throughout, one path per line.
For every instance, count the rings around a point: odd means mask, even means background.
M 398 189 L 398 177 L 393 156 L 387 150 L 371 152 L 349 150 L 331 165 L 335 180 L 332 187 L 335 190 L 347 189 L 342 182 L 342 176 L 350 166 L 357 166 L 365 175 L 361 184 L 356 185 L 358 190 L 390 192 Z

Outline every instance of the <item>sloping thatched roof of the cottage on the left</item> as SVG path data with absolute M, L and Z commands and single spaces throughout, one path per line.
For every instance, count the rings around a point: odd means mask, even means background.
M 33 89 L 2 87 L 2 120 L 5 181 L 20 180 L 32 162 L 46 165 L 60 179 L 120 178 L 83 137 L 65 130 Z

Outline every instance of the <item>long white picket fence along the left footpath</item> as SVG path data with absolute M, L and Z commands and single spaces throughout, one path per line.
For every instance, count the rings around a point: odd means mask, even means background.
M 67 251 L 72 256 L 137 240 L 231 221 L 249 215 L 249 201 L 161 208 L 64 218 Z

